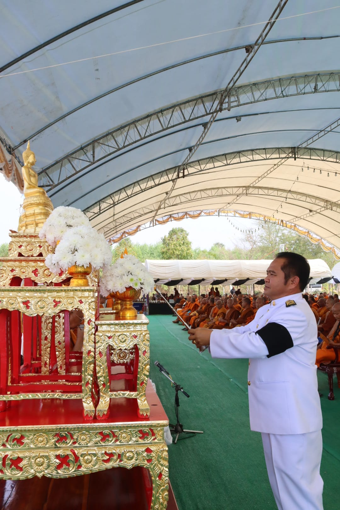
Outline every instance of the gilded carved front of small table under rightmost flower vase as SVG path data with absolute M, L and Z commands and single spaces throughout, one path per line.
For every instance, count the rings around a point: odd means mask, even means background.
M 150 407 L 146 401 L 145 390 L 146 382 L 149 376 L 150 350 L 149 350 L 149 332 L 147 330 L 148 320 L 145 316 L 134 320 L 109 320 L 107 316 L 96 322 L 96 371 L 100 391 L 100 400 L 96 409 L 98 417 L 105 415 L 109 409 L 110 398 L 121 396 L 127 398 L 136 398 L 139 412 L 143 416 L 148 416 Z M 131 359 L 130 355 L 135 350 L 139 351 L 138 371 L 137 371 L 137 392 L 111 392 L 110 377 L 108 372 L 106 352 L 108 347 L 114 356 L 114 361 L 119 356 L 126 356 L 126 360 Z M 116 361 L 116 363 L 125 363 L 125 360 Z M 127 362 L 127 361 L 126 361 Z

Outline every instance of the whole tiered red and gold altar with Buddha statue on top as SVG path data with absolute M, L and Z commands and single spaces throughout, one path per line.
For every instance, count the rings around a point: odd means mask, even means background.
M 53 248 L 37 234 L 53 206 L 37 187 L 29 146 L 25 152 L 20 232 L 10 234 L 9 257 L 0 259 L 0 478 L 143 466 L 152 479 L 150 508 L 165 509 L 168 420 L 146 390 L 148 320 L 99 310 L 98 274 L 88 287 L 72 287 L 67 273 L 46 267 Z M 84 315 L 82 352 L 70 345 L 72 310 Z

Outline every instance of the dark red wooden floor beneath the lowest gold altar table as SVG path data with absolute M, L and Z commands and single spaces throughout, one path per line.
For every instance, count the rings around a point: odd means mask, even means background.
M 2 510 L 147 510 L 147 470 L 112 468 L 70 478 L 0 480 Z M 169 484 L 167 510 L 178 510 Z

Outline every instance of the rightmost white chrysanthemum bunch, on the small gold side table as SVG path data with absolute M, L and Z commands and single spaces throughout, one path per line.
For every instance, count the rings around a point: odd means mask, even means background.
M 144 294 L 154 289 L 153 277 L 134 255 L 124 255 L 112 266 L 104 267 L 99 285 L 102 296 L 124 292 L 128 287 L 142 288 Z

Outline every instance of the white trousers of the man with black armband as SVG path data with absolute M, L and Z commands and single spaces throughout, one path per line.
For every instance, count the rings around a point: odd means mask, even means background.
M 269 481 L 279 510 L 323 510 L 321 430 L 278 435 L 262 432 Z

